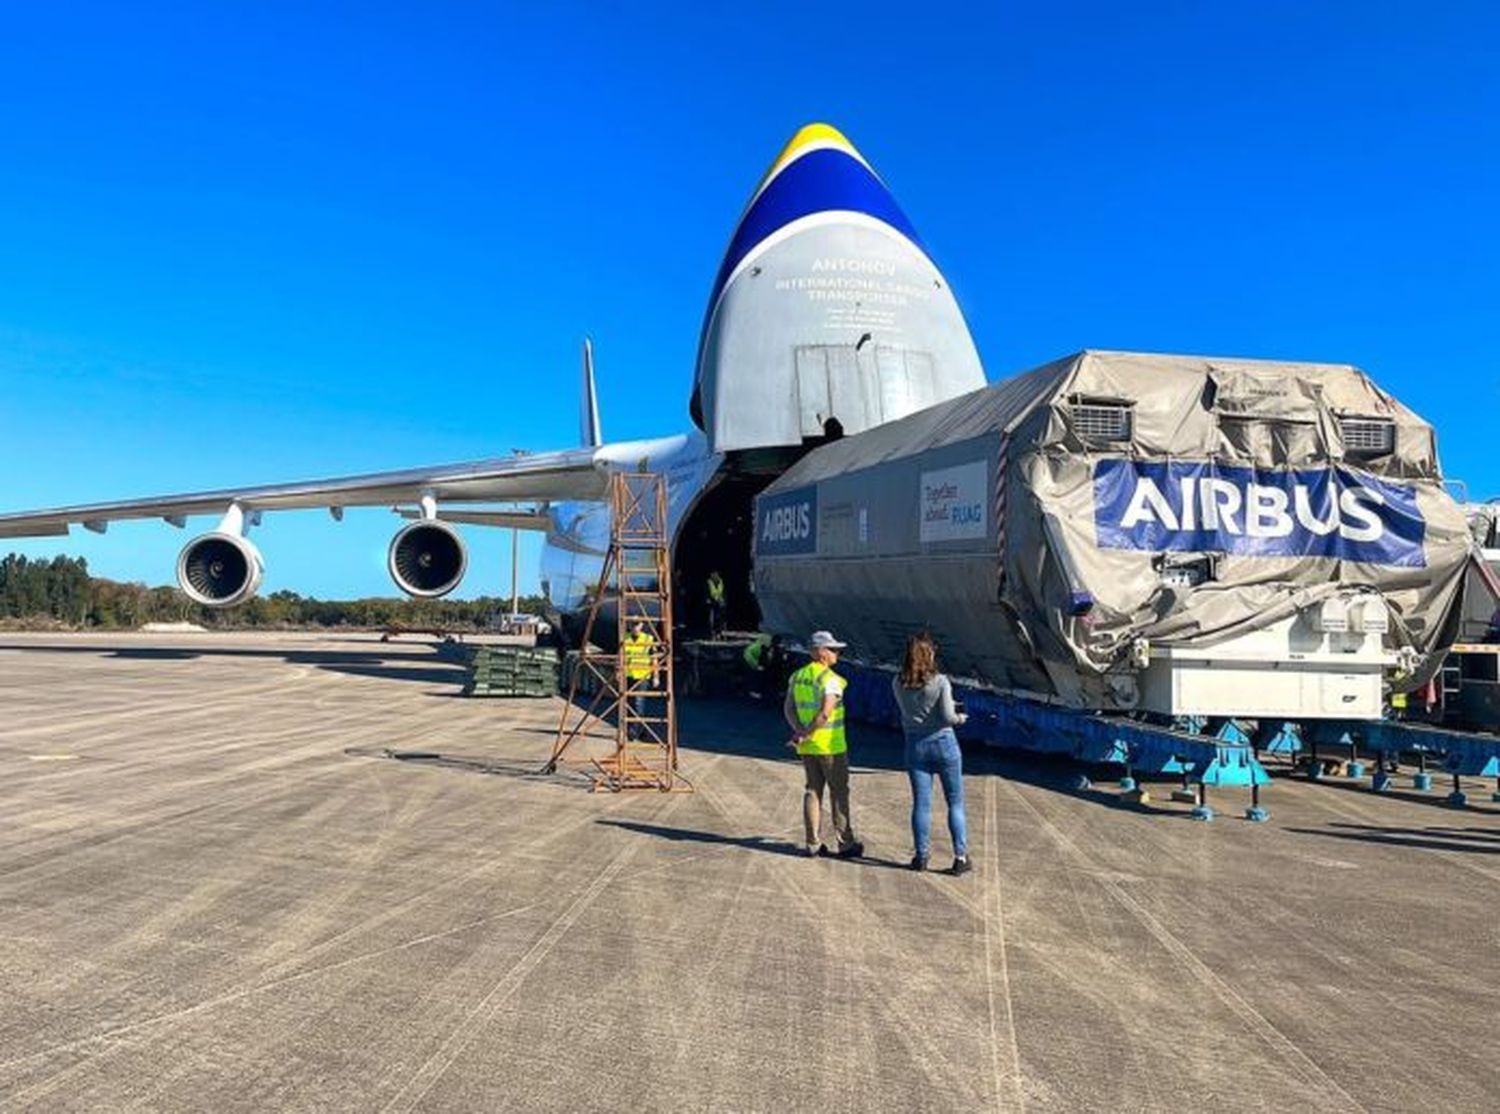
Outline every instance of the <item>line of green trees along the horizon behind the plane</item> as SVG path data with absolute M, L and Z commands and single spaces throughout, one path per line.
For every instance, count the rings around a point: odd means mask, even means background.
M 520 597 L 520 610 L 542 615 L 542 597 Z M 280 591 L 238 607 L 202 607 L 177 588 L 147 588 L 88 576 L 82 558 L 0 559 L 0 624 L 118 630 L 146 622 L 200 627 L 412 627 L 488 630 L 510 612 L 510 600 L 314 600 Z

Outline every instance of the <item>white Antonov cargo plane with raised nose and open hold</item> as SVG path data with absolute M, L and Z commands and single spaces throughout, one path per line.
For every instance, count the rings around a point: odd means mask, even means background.
M 824 441 L 892 421 L 984 387 L 963 313 L 942 271 L 870 163 L 834 127 L 802 127 L 750 196 L 714 279 L 688 403 L 696 429 L 604 444 L 592 354 L 584 349 L 580 447 L 434 468 L 278 483 L 153 499 L 0 514 L 0 537 L 104 532 L 117 519 L 192 516 L 218 525 L 189 541 L 177 582 L 195 601 L 231 607 L 260 588 L 249 529 L 267 511 L 398 507 L 396 586 L 440 597 L 464 577 L 454 523 L 546 532 L 543 591 L 576 616 L 608 540 L 600 502 L 618 469 L 664 472 L 678 591 L 690 615 L 718 570 L 730 625 L 754 627 L 748 592 L 752 499 Z M 507 510 L 495 504 L 531 504 Z M 573 625 L 573 624 L 567 624 Z

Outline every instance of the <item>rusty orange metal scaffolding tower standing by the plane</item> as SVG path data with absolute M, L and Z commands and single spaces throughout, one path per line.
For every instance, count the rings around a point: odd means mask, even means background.
M 544 772 L 568 762 L 584 768 L 596 790 L 690 789 L 676 769 L 666 478 L 651 472 L 615 472 L 609 484 L 609 550 Z M 615 612 L 615 649 L 606 652 L 592 639 L 596 631 L 603 633 L 610 609 Z M 650 642 L 632 657 L 626 646 L 636 624 Z M 632 678 L 632 663 L 638 673 L 650 666 L 650 673 Z M 598 753 L 597 744 L 604 739 L 612 747 Z M 584 754 L 568 759 L 570 750 Z

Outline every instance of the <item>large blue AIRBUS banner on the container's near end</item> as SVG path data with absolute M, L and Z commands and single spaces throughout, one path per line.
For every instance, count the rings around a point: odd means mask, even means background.
M 1416 492 L 1346 468 L 1100 460 L 1094 523 L 1101 549 L 1426 565 Z

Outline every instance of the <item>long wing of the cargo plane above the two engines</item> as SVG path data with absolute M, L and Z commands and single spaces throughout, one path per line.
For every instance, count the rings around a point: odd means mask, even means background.
M 608 456 L 608 450 L 594 447 L 518 453 L 400 472 L 18 511 L 0 514 L 0 538 L 60 537 L 74 523 L 102 534 L 108 523 L 122 519 L 164 519 L 182 526 L 190 514 L 224 514 L 230 505 L 238 505 L 246 514 L 326 507 L 338 517 L 345 507 L 388 507 L 424 496 L 442 504 L 602 499 L 609 484 Z

